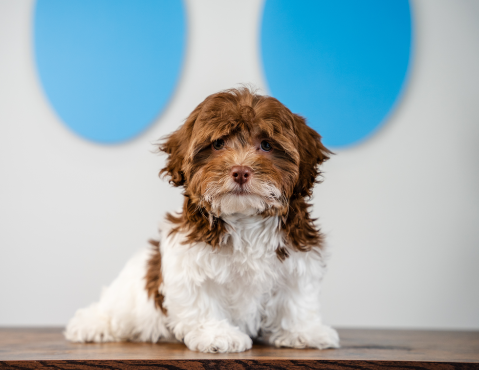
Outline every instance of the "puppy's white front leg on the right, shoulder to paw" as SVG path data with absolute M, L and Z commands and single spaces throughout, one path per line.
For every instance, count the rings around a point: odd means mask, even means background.
M 285 281 L 265 304 L 263 329 L 271 333 L 276 347 L 338 348 L 336 330 L 324 325 L 320 316 L 321 255 L 293 252 L 284 261 Z

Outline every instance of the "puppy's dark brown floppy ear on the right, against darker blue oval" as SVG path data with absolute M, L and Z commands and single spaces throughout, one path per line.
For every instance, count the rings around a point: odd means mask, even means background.
M 293 196 L 310 197 L 313 185 L 320 182 L 319 165 L 328 160 L 329 155 L 333 153 L 321 143 L 321 135 L 309 127 L 303 117 L 297 114 L 293 114 L 293 117 L 300 156 L 299 178 Z

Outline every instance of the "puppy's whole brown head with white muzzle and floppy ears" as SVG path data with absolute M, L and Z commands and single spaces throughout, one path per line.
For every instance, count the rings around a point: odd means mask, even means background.
M 314 229 L 305 197 L 330 152 L 305 119 L 278 100 L 246 88 L 210 95 L 160 149 L 169 155 L 160 173 L 185 188 L 184 222 L 195 228 L 192 223 L 205 227 L 200 219 L 209 220 L 209 237 L 196 230 L 196 241 L 215 246 L 221 218 L 233 213 L 278 215 L 288 236 L 294 227 L 306 234 Z M 310 239 L 320 237 L 314 234 Z M 312 243 L 293 241 L 299 249 Z

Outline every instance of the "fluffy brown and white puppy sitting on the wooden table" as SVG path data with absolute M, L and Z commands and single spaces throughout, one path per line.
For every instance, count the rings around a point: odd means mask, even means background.
M 338 347 L 319 313 L 323 236 L 306 203 L 331 154 L 321 136 L 242 88 L 207 97 L 159 149 L 183 209 L 65 337 L 178 340 L 202 352 L 244 351 L 260 335 L 277 347 Z

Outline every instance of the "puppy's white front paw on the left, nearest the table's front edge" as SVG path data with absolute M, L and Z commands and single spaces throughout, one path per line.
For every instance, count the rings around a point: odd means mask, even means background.
M 184 342 L 191 350 L 211 353 L 242 352 L 253 345 L 248 335 L 226 321 L 203 324 L 189 331 Z

